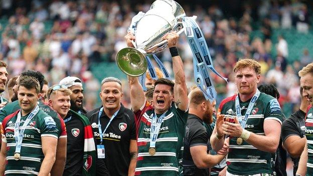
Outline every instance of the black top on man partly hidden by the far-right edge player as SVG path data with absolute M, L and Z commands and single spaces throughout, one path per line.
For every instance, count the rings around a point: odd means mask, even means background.
M 305 112 L 297 110 L 289 118 L 282 122 L 281 125 L 281 139 L 284 142 L 287 137 L 291 135 L 297 135 L 301 138 L 305 136 L 305 125 L 304 125 Z M 299 158 L 292 158 L 293 161 L 293 175 L 295 175 L 298 169 Z

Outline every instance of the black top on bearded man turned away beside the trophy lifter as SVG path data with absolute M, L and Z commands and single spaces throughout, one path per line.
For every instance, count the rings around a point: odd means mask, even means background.
M 207 146 L 208 147 L 207 153 L 209 153 L 210 150 L 209 135 L 207 129 L 203 124 L 203 121 L 194 114 L 188 114 L 186 135 L 184 139 L 184 154 L 183 154 L 184 174 L 209 175 L 208 169 L 197 168 L 192 159 L 190 147 L 197 145 Z

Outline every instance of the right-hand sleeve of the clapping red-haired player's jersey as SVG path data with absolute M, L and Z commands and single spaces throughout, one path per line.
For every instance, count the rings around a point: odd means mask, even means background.
M 266 104 L 264 120 L 277 120 L 281 124 L 282 113 L 277 99 L 273 98 Z

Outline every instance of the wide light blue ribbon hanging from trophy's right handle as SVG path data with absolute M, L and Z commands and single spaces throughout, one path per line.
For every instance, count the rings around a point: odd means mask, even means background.
M 213 66 L 211 55 L 203 36 L 203 33 L 197 25 L 195 19 L 197 17 L 185 17 L 183 26 L 187 36 L 188 43 L 193 52 L 194 58 L 194 77 L 197 86 L 203 92 L 207 100 L 212 102 L 216 99 L 216 90 L 213 81 L 210 77 L 209 70 L 213 71 L 216 75 L 227 81 L 227 78 L 222 77 Z

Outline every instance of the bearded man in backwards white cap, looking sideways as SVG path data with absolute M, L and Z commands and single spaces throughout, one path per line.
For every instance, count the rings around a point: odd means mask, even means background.
M 83 108 L 84 89 L 81 80 L 75 76 L 68 76 L 63 78 L 60 85 L 65 85 L 72 91 L 71 94 L 71 110 L 86 115 L 87 111 Z

